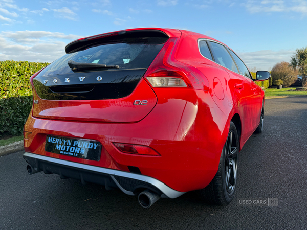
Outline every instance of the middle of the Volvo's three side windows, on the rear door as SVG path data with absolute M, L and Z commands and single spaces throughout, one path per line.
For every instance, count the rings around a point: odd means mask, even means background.
M 239 73 L 232 57 L 230 56 L 230 54 L 228 53 L 224 45 L 218 44 L 216 42 L 211 42 L 211 41 L 210 41 L 210 44 L 213 50 L 215 61 L 218 64 L 228 68 L 229 70 Z

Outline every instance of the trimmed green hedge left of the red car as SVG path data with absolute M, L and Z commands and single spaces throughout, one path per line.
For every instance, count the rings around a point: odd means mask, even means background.
M 32 107 L 30 77 L 48 63 L 0 62 L 0 136 L 20 135 Z

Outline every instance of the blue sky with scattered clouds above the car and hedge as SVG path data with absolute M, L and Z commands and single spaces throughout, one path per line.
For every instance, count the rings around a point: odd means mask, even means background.
M 307 0 L 0 0 L 0 60 L 52 62 L 80 37 L 139 27 L 184 29 L 270 70 L 307 45 Z

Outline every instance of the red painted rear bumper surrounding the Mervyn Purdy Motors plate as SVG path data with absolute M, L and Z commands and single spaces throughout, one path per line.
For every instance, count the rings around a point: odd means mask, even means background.
M 123 172 L 126 175 L 123 177 L 137 180 L 139 175 L 146 176 L 142 177 L 146 178 L 143 181 L 155 178 L 175 191 L 205 188 L 218 168 L 228 135 L 228 130 L 224 130 L 227 118 L 207 92 L 186 90 L 184 93 L 157 89 L 156 94 L 161 100 L 144 119 L 136 123 L 52 120 L 30 114 L 24 131 L 32 134 L 24 139 L 25 151 L 47 157 L 44 159 L 61 160 L 61 163 L 65 163 L 61 165 L 77 163 L 82 166 L 81 169 L 84 169 L 84 165 L 93 166 L 93 169 L 109 169 L 116 175 Z M 219 118 L 219 122 L 223 122 L 216 123 L 211 112 Z M 48 152 L 45 150 L 48 135 L 100 142 L 104 147 L 100 160 Z M 160 156 L 120 152 L 113 143 L 148 146 Z M 141 174 L 135 174 L 129 167 L 138 168 Z M 130 177 L 130 173 L 133 177 Z M 72 173 L 67 177 L 74 176 Z M 82 180 L 80 176 L 77 179 Z

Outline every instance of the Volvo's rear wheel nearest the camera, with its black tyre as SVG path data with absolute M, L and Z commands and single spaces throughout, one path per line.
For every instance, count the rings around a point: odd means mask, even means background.
M 238 134 L 231 121 L 217 173 L 206 188 L 198 191 L 203 201 L 210 204 L 226 205 L 233 199 L 237 183 L 238 152 Z

